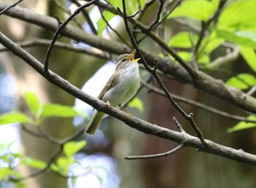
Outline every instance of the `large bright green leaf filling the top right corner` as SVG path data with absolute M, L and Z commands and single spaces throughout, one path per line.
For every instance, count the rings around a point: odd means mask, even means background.
M 221 13 L 218 28 L 237 30 L 254 30 L 256 28 L 256 1 L 233 1 Z

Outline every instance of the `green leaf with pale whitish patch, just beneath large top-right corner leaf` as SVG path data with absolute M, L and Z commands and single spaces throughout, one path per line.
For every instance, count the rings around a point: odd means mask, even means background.
M 255 11 L 256 12 L 256 11 Z M 217 35 L 226 39 L 228 42 L 240 44 L 246 47 L 256 48 L 256 32 L 253 31 L 229 31 L 217 30 Z

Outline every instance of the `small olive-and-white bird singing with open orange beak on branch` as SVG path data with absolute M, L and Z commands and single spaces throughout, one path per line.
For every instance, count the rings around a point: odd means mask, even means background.
M 138 59 L 134 50 L 131 54 L 123 54 L 118 57 L 115 73 L 99 94 L 99 99 L 110 103 L 111 106 L 119 106 L 129 101 L 140 87 L 140 74 Z M 96 111 L 84 133 L 94 135 L 104 116 L 104 112 Z

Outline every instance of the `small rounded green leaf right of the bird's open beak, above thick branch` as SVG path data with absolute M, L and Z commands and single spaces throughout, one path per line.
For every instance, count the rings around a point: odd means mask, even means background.
M 196 44 L 198 40 L 198 36 L 192 34 L 191 32 L 180 32 L 175 36 L 171 37 L 168 45 L 171 47 L 184 47 L 190 48 L 193 47 L 193 44 Z

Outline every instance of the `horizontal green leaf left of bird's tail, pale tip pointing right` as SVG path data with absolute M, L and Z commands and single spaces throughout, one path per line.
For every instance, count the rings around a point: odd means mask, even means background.
M 50 103 L 42 105 L 42 117 L 75 117 L 86 114 L 83 111 L 74 109 L 71 106 L 64 106 L 60 104 Z

